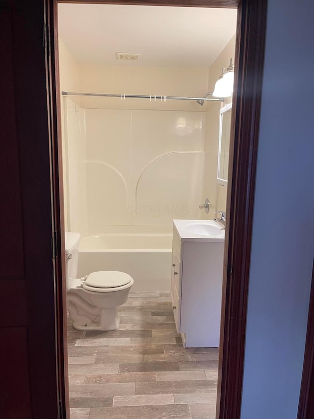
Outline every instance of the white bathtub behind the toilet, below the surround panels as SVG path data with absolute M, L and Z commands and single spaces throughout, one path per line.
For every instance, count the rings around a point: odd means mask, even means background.
M 172 231 L 106 232 L 81 237 L 78 277 L 122 271 L 134 279 L 131 291 L 170 291 Z

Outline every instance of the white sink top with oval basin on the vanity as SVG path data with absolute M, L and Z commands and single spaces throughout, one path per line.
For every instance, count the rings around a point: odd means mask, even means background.
M 225 226 L 213 220 L 173 220 L 183 241 L 220 242 L 225 239 Z

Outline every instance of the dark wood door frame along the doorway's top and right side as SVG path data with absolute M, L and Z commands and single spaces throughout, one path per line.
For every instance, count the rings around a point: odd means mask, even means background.
M 50 36 L 55 72 L 52 83 L 54 83 L 54 89 L 58 94 L 57 2 L 238 8 L 235 51 L 236 89 L 233 97 L 233 128 L 229 163 L 232 170 L 229 170 L 228 179 L 226 227 L 228 240 L 225 242 L 223 273 L 223 296 L 225 298 L 223 298 L 221 318 L 216 417 L 239 419 L 267 0 L 53 0 L 54 13 L 50 15 Z M 56 116 L 58 101 L 59 98 L 54 95 L 52 97 L 52 119 L 55 127 L 60 123 Z M 61 141 L 59 141 L 60 143 Z M 55 146 L 57 147 L 57 144 Z M 57 153 L 54 159 L 55 166 L 58 167 Z M 58 174 L 54 173 L 54 176 L 57 177 Z M 56 183 L 60 185 L 59 178 Z M 57 206 L 62 212 L 60 205 Z M 56 221 L 58 222 L 58 220 Z M 59 224 L 58 228 L 62 232 L 63 226 Z M 61 304 L 61 299 L 64 298 L 64 295 L 62 297 L 62 284 L 59 284 L 59 289 L 61 291 L 57 298 Z M 62 344 L 59 342 L 60 347 Z M 66 391 L 63 391 L 63 397 L 66 397 Z

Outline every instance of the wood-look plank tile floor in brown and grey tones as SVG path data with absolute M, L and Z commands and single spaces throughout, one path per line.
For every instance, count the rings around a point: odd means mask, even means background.
M 183 348 L 168 293 L 130 292 L 119 311 L 108 332 L 68 318 L 71 419 L 214 419 L 218 349 Z

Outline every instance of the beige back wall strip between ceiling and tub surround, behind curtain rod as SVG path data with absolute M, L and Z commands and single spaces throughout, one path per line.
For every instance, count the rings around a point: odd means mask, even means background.
M 195 101 L 155 102 L 154 95 L 202 97 L 208 91 L 208 68 L 166 68 L 80 64 L 82 92 L 152 95 L 149 99 L 82 97 L 83 108 L 200 111 Z M 204 109 L 202 110 L 204 111 Z

